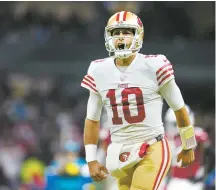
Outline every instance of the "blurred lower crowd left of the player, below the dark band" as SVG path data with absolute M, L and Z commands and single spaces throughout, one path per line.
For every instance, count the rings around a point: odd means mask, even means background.
M 82 144 L 83 124 L 73 119 L 75 102 L 58 95 L 49 78 L 4 72 L 0 88 L 0 186 L 17 190 L 21 181 L 32 180 L 22 176 L 23 161 L 37 158 L 44 168 L 68 140 Z

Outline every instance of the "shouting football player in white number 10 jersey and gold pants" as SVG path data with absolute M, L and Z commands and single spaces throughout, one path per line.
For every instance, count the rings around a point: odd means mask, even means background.
M 114 14 L 105 27 L 110 57 L 92 61 L 81 86 L 90 91 L 84 129 L 90 175 L 101 181 L 111 175 L 119 190 L 156 190 L 171 162 L 162 123 L 163 99 L 173 109 L 182 150 L 177 161 L 186 167 L 194 161 L 194 127 L 190 123 L 172 64 L 164 55 L 138 53 L 144 27 L 127 11 Z M 97 161 L 102 107 L 108 115 L 111 144 L 106 166 Z

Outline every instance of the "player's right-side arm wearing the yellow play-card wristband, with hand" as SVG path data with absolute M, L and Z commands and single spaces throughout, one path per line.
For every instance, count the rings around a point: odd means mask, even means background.
M 182 141 L 182 152 L 178 155 L 178 161 L 182 160 L 182 166 L 187 166 L 194 161 L 193 148 L 196 146 L 196 139 L 181 91 L 172 79 L 160 88 L 160 93 L 175 112 Z

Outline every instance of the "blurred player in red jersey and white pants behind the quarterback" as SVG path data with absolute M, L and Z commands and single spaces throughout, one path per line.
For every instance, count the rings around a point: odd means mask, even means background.
M 196 117 L 193 110 L 186 105 L 186 109 L 189 113 L 191 124 L 194 125 L 195 137 L 197 140 L 197 146 L 195 148 L 195 161 L 186 168 L 181 168 L 176 162 L 176 157 L 181 151 L 181 137 L 176 128 L 177 122 L 175 118 L 175 113 L 172 109 L 168 109 L 165 113 L 165 131 L 166 136 L 171 144 L 172 150 L 172 162 L 169 175 L 164 181 L 164 188 L 166 190 L 202 190 L 203 180 L 204 180 L 204 158 L 205 149 L 209 147 L 208 133 L 200 126 L 196 126 Z M 162 189 L 162 187 L 161 187 Z

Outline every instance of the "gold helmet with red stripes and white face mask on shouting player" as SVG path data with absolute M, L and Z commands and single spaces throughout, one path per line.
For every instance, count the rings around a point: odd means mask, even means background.
M 129 28 L 134 30 L 133 37 L 120 37 L 112 36 L 112 30 L 117 28 Z M 105 27 L 105 46 L 109 55 L 112 57 L 117 57 L 120 59 L 125 59 L 131 55 L 139 52 L 142 48 L 143 38 L 144 38 L 144 27 L 140 18 L 134 13 L 121 11 L 110 17 L 107 26 Z M 132 43 L 130 47 L 126 47 L 124 44 L 123 48 L 116 48 L 114 44 L 114 39 L 119 38 L 132 38 Z

